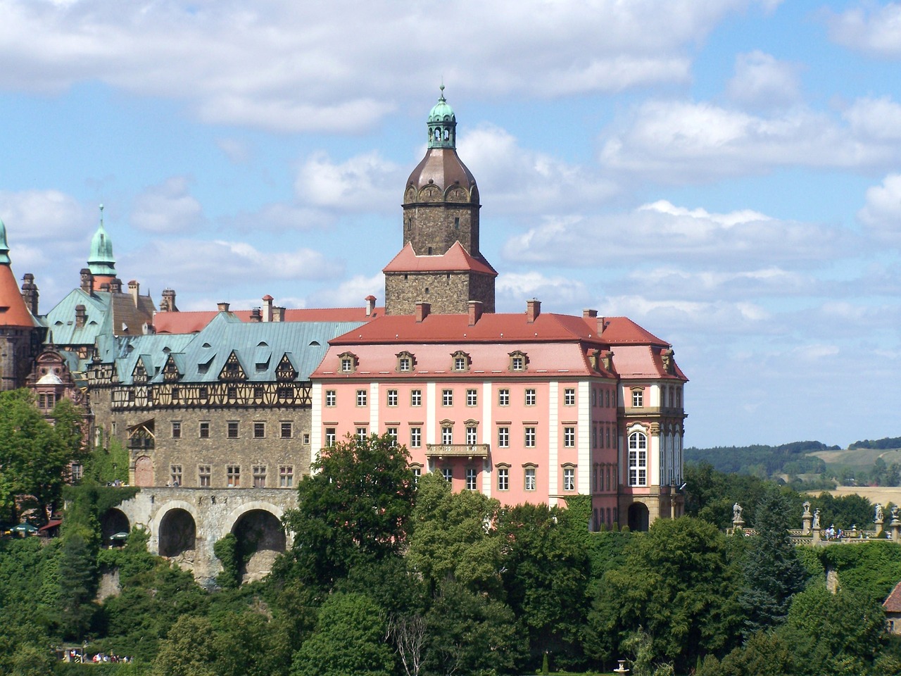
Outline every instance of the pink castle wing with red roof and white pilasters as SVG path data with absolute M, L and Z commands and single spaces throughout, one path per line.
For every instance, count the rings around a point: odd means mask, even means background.
M 312 448 L 396 434 L 415 470 L 504 504 L 590 495 L 595 529 L 678 516 L 685 377 L 669 345 L 622 317 L 530 306 L 385 316 L 333 340 L 311 377 Z

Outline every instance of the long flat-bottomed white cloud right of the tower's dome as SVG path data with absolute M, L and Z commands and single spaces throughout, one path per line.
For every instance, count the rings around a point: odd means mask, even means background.
M 595 266 L 598 251 L 619 264 L 667 260 L 732 269 L 779 260 L 818 261 L 849 248 L 847 235 L 816 224 L 780 221 L 751 210 L 711 214 L 665 200 L 628 213 L 549 217 L 504 245 L 526 263 Z

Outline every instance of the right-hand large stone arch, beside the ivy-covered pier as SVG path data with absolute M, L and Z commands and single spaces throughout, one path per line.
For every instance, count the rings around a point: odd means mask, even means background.
M 282 514 L 281 508 L 258 501 L 242 505 L 230 515 L 230 533 L 238 541 L 242 582 L 264 578 L 272 570 L 278 554 L 287 549 Z

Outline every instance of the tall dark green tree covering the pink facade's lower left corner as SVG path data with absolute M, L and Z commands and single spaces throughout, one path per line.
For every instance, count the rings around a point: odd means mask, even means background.
M 408 461 L 388 434 L 323 449 L 284 518 L 302 577 L 331 586 L 352 566 L 401 550 L 415 492 Z

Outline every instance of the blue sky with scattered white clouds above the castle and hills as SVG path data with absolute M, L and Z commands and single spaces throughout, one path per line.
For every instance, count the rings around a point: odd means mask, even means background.
M 182 310 L 384 298 L 439 85 L 497 308 L 626 315 L 687 446 L 901 435 L 901 3 L 0 0 L 0 219 Z

